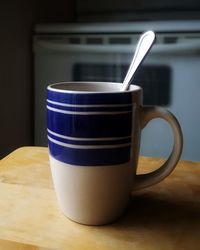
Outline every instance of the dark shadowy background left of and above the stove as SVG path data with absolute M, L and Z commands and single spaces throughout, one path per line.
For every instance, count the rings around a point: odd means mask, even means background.
M 35 25 L 183 19 L 200 19 L 199 1 L 2 0 L 0 2 L 0 157 L 20 146 L 34 145 Z M 193 112 L 198 112 L 198 107 Z

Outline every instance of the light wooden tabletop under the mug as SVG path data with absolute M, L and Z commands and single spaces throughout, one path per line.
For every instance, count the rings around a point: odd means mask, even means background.
M 141 157 L 141 171 L 162 159 Z M 0 249 L 200 249 L 200 164 L 181 161 L 162 183 L 135 192 L 118 221 L 84 226 L 57 205 L 47 148 L 23 147 L 0 161 Z

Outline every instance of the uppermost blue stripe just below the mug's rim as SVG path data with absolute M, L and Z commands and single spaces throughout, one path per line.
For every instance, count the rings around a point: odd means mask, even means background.
M 52 90 L 47 90 L 48 99 L 55 102 L 78 105 L 101 105 L 101 104 L 132 104 L 131 92 L 119 93 L 61 93 Z

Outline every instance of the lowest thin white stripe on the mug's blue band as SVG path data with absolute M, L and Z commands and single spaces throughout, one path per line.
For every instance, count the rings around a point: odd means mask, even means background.
M 131 143 L 124 143 L 124 144 L 118 144 L 118 145 L 73 145 L 73 144 L 68 144 L 64 142 L 57 141 L 50 136 L 48 136 L 48 139 L 60 146 L 67 147 L 67 148 L 77 148 L 77 149 L 105 149 L 105 148 L 124 148 L 127 146 L 130 146 Z

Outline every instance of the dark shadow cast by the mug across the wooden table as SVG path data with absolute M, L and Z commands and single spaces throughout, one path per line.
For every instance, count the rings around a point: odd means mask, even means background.
M 145 228 L 183 232 L 183 237 L 199 235 L 200 203 L 187 197 L 185 200 L 172 200 L 166 196 L 155 196 L 153 192 L 133 195 L 127 211 L 113 225 L 117 229 L 126 230 Z

